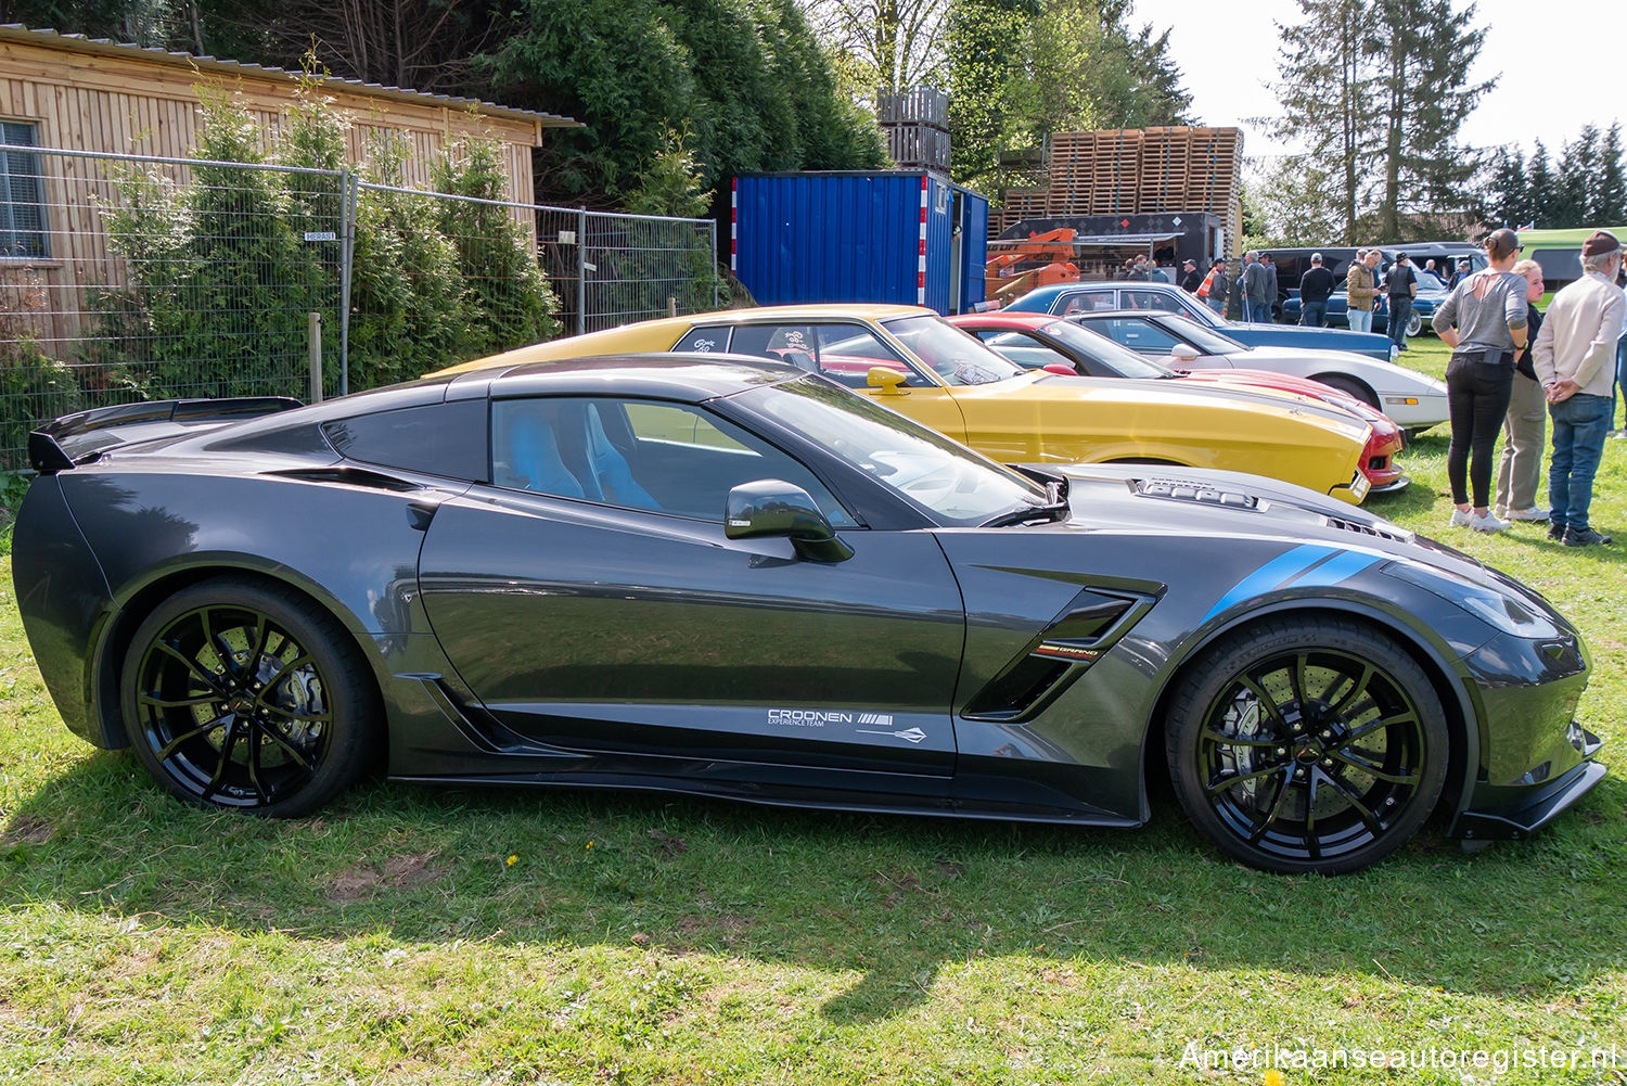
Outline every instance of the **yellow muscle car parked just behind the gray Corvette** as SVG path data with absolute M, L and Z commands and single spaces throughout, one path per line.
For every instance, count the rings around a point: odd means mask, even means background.
M 931 309 L 771 306 L 667 317 L 478 358 L 441 373 L 651 352 L 778 358 L 866 392 L 1002 462 L 1183 464 L 1271 475 L 1352 505 L 1368 425 L 1277 392 L 1032 371 Z

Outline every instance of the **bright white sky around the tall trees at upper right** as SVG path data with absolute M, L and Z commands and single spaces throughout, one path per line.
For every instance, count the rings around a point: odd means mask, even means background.
M 1456 3 L 1461 10 L 1463 0 Z M 1541 138 L 1551 156 L 1581 125 L 1601 130 L 1627 116 L 1627 7 L 1617 0 L 1477 0 L 1487 26 L 1469 72 L 1481 81 L 1502 75 L 1463 125 L 1471 147 L 1518 143 L 1529 155 Z M 1248 117 L 1277 112 L 1267 85 L 1277 78 L 1277 23 L 1298 21 L 1295 0 L 1134 0 L 1131 23 L 1170 28 L 1170 55 L 1204 125 L 1243 129 L 1243 153 L 1280 155 Z M 1607 42 L 1578 60 L 1586 41 Z M 1627 124 L 1624 124 L 1627 129 Z

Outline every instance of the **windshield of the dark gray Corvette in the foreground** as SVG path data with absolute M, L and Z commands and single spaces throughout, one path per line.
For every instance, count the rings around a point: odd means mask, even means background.
M 737 399 L 892 487 L 942 524 L 981 524 L 1048 500 L 1043 487 L 1009 467 L 815 378 L 750 389 Z

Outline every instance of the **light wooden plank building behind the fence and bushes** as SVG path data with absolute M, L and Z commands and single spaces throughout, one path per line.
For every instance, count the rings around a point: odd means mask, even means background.
M 0 26 L 0 345 L 23 337 L 73 358 L 89 334 L 85 291 L 125 282 L 104 231 L 117 204 L 112 155 L 187 158 L 202 124 L 200 91 L 221 93 L 272 135 L 296 103 L 299 73 L 215 57 L 143 49 L 78 34 Z M 347 151 L 361 163 L 379 134 L 408 142 L 405 186 L 430 189 L 443 148 L 464 135 L 496 138 L 508 199 L 532 204 L 532 148 L 569 117 L 446 94 L 319 77 L 348 122 Z M 41 148 L 39 151 L 23 148 Z M 57 151 L 83 151 L 62 155 Z M 185 168 L 145 164 L 150 176 Z M 524 208 L 514 217 L 535 231 Z M 337 223 L 335 223 L 337 226 Z M 317 231 L 312 244 L 335 244 Z

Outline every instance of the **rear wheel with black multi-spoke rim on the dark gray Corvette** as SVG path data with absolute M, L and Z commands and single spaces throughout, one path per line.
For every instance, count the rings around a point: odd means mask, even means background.
M 166 599 L 130 642 L 120 698 L 146 772 L 213 809 L 309 814 L 382 749 L 355 643 L 275 585 L 216 578 Z

